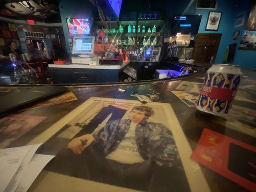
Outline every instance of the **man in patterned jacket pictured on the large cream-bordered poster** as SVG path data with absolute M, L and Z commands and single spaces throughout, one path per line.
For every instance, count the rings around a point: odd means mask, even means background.
M 172 133 L 161 123 L 149 122 L 153 114 L 150 107 L 135 106 L 129 119 L 110 121 L 98 132 L 72 139 L 51 168 L 61 166 L 64 174 L 139 190 L 187 190 L 185 183 L 178 184 Z

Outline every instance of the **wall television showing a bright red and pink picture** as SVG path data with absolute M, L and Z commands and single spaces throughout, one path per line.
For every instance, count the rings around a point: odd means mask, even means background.
M 67 19 L 70 35 L 90 34 L 90 25 L 88 19 Z

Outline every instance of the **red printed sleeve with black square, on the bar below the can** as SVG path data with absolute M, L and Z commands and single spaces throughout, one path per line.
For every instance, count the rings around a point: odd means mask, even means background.
M 256 147 L 204 129 L 191 159 L 236 182 L 256 189 Z

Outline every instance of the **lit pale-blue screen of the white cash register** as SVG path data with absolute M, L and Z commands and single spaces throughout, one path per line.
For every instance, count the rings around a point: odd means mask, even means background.
M 92 54 L 94 50 L 94 36 L 74 37 L 73 54 Z

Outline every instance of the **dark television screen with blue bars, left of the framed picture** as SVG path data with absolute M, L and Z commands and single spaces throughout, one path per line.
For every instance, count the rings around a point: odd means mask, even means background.
M 175 15 L 172 20 L 171 35 L 197 34 L 202 15 Z

